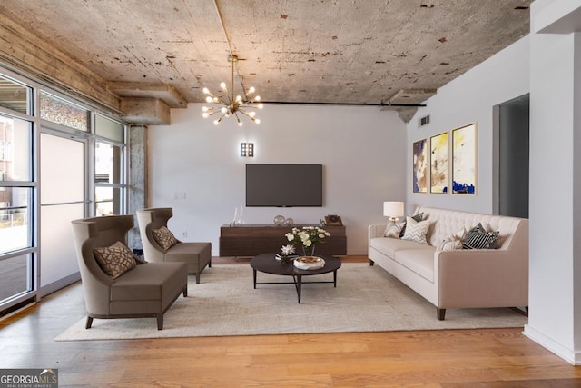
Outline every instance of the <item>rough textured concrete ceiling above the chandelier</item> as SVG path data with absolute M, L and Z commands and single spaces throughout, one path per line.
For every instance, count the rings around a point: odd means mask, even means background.
M 265 102 L 419 104 L 529 31 L 530 0 L 3 0 L 119 95 L 187 102 L 256 87 Z M 126 84 L 130 83 L 130 84 Z M 148 85 L 151 86 L 148 88 Z

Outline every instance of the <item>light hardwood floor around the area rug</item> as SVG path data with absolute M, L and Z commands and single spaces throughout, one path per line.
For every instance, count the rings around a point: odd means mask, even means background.
M 522 328 L 54 342 L 83 317 L 73 284 L 0 321 L 0 368 L 58 368 L 61 387 L 581 387 Z

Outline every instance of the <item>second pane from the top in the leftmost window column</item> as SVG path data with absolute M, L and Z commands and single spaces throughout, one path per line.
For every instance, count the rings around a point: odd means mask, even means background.
M 32 180 L 32 125 L 0 115 L 0 182 Z

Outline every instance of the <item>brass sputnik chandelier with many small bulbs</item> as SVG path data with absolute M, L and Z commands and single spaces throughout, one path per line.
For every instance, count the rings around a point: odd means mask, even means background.
M 222 114 L 220 118 L 214 120 L 214 125 L 218 125 L 222 121 L 222 118 L 234 115 L 238 125 L 242 126 L 239 114 L 243 114 L 254 123 L 261 124 L 261 120 L 256 117 L 256 112 L 253 111 L 253 109 L 262 109 L 262 103 L 260 102 L 261 96 L 255 95 L 252 97 L 251 95 L 254 94 L 255 89 L 251 87 L 246 92 L 244 85 L 241 83 L 243 95 L 236 95 L 234 97 L 234 64 L 238 62 L 238 56 L 229 55 L 228 60 L 232 64 L 231 93 L 228 93 L 228 87 L 224 82 L 220 84 L 221 93 L 218 96 L 212 95 L 210 90 L 204 87 L 202 92 L 206 95 L 206 103 L 222 106 L 203 106 L 202 117 L 208 118 L 213 114 Z

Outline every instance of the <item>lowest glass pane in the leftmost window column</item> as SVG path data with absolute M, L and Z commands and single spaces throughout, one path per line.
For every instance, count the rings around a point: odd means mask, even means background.
M 30 254 L 0 261 L 0 303 L 20 293 L 32 291 L 32 268 Z

